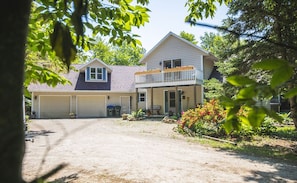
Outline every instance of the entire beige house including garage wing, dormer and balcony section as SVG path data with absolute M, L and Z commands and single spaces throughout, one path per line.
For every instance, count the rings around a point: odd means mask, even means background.
M 31 84 L 31 110 L 37 118 L 108 117 L 138 109 L 179 114 L 203 103 L 203 80 L 214 75 L 215 60 L 169 32 L 140 60 L 144 66 L 110 66 L 94 59 L 64 75 L 72 85 Z

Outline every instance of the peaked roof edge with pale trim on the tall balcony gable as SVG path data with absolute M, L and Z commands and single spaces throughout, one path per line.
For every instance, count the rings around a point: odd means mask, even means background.
M 178 40 L 180 40 L 180 41 L 182 41 L 182 42 L 184 42 L 184 43 L 186 43 L 186 44 L 188 44 L 189 46 L 192 46 L 193 48 L 195 48 L 195 49 L 198 49 L 198 50 L 200 50 L 202 53 L 203 53 L 203 55 L 204 56 L 210 56 L 210 57 L 212 57 L 213 59 L 216 59 L 216 57 L 215 56 L 213 56 L 210 52 L 208 52 L 208 51 L 206 51 L 206 50 L 204 50 L 203 48 L 201 48 L 201 47 L 199 47 L 199 46 L 197 46 L 197 45 L 195 45 L 195 44 L 193 44 L 192 42 L 190 42 L 190 41 L 188 41 L 188 40 L 186 40 L 186 39 L 184 39 L 184 38 L 182 38 L 182 37 L 180 37 L 180 36 L 178 36 L 177 34 L 175 34 L 175 33 L 173 33 L 173 32 L 169 32 L 163 39 L 161 39 L 149 52 L 147 52 L 147 54 L 145 54 L 144 55 L 144 57 L 142 57 L 142 59 L 140 59 L 140 63 L 144 63 L 145 62 L 145 59 L 150 55 L 150 54 L 152 54 L 156 49 L 158 49 L 158 47 L 162 44 L 162 43 L 164 43 L 167 39 L 169 39 L 170 37 L 174 37 L 174 38 L 176 38 L 176 39 L 178 39 Z

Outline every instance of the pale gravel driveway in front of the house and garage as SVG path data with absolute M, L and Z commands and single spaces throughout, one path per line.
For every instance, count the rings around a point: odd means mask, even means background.
M 175 124 L 119 118 L 33 120 L 24 178 L 60 163 L 50 181 L 71 183 L 296 182 L 297 166 L 208 148 L 175 133 Z

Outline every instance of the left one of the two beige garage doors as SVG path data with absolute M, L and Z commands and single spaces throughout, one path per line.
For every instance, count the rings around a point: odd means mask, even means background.
M 40 96 L 40 118 L 69 118 L 70 96 Z

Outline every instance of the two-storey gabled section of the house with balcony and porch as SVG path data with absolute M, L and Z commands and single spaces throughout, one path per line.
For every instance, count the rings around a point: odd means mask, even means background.
M 215 60 L 209 52 L 169 32 L 140 60 L 146 70 L 135 73 L 136 92 L 145 89 L 146 109 L 153 113 L 156 106 L 161 106 L 161 114 L 169 115 L 195 108 L 203 103 L 203 80 L 217 75 Z

